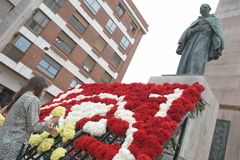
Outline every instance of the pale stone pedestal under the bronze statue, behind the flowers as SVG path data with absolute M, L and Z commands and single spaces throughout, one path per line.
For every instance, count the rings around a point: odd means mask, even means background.
M 219 104 L 203 76 L 159 76 L 151 77 L 148 83 L 180 83 L 192 85 L 199 82 L 205 87 L 202 98 L 211 107 L 207 107 L 202 116 L 189 119 L 183 140 L 180 157 L 185 160 L 207 160 L 218 116 Z

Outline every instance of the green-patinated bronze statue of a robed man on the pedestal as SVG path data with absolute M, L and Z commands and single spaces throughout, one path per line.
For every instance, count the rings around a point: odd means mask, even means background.
M 206 64 L 222 55 L 224 49 L 220 19 L 209 14 L 211 7 L 202 4 L 200 13 L 178 41 L 177 54 L 182 55 L 177 75 L 204 75 Z

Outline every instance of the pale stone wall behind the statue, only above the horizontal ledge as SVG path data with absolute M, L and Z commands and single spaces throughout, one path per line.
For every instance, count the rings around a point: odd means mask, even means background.
M 222 21 L 225 49 L 208 63 L 205 78 L 220 105 L 240 106 L 240 1 L 220 0 L 215 15 Z

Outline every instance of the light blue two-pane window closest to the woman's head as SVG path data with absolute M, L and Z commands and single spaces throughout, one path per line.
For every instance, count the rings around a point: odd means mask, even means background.
M 46 73 L 49 77 L 55 78 L 62 67 L 51 57 L 45 54 L 43 59 L 37 65 L 37 68 Z

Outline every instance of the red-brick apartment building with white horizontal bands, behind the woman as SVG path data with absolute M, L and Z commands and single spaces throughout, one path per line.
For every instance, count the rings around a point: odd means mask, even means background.
M 42 103 L 77 83 L 121 82 L 148 31 L 131 0 L 15 1 L 0 2 L 1 105 L 34 75 L 50 84 Z

